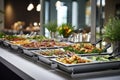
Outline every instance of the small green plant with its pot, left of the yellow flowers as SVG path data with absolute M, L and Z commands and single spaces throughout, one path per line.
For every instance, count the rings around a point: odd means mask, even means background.
M 45 28 L 50 32 L 51 38 L 55 38 L 55 33 L 57 31 L 57 22 L 49 22 L 44 25 Z

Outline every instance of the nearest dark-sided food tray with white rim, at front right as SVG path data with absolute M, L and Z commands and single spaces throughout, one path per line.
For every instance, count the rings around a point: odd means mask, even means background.
M 108 70 L 120 68 L 120 61 L 93 61 L 90 63 L 79 63 L 79 64 L 64 64 L 58 62 L 56 59 L 51 59 L 57 64 L 57 68 L 69 74 L 79 74 L 86 72 L 94 72 L 100 70 Z

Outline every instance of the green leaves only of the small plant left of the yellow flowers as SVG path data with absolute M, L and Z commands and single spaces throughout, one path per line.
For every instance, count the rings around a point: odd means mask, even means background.
M 44 27 L 47 28 L 49 32 L 56 32 L 57 22 L 49 22 L 47 24 L 44 24 Z

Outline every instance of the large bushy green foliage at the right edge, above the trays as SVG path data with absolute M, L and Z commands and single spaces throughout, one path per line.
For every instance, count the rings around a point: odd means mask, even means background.
M 111 42 L 120 41 L 120 19 L 112 17 L 104 26 L 104 38 Z

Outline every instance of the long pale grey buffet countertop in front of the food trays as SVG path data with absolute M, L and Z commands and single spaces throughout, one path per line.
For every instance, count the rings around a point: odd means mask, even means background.
M 37 62 L 11 49 L 0 48 L 0 62 L 24 80 L 119 80 L 120 69 L 81 73 L 78 78 L 71 78 L 60 70 Z

